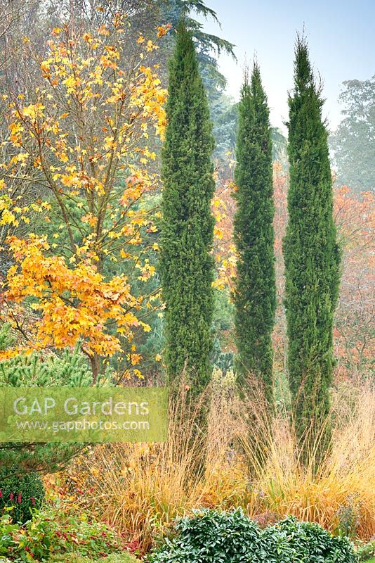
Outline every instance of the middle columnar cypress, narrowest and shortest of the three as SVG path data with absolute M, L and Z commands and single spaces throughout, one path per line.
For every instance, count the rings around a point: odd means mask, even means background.
M 251 372 L 272 401 L 272 328 L 276 287 L 273 251 L 272 143 L 267 97 L 254 64 L 239 102 L 235 243 L 235 327 L 239 381 Z

